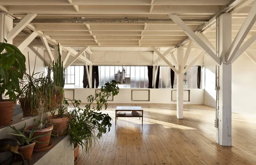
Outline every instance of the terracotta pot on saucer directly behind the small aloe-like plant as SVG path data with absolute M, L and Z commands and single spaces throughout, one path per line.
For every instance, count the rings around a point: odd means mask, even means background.
M 36 127 L 38 124 L 31 125 L 29 127 L 25 128 L 26 133 L 30 133 L 31 130 Z M 53 129 L 53 124 L 47 123 L 45 124 L 45 128 L 41 130 L 36 130 L 32 137 L 39 136 L 39 135 L 45 135 L 45 134 L 51 134 Z M 43 142 L 43 143 L 36 143 L 34 149 L 42 149 L 46 148 L 49 145 L 51 135 L 38 137 L 35 139 L 37 142 Z

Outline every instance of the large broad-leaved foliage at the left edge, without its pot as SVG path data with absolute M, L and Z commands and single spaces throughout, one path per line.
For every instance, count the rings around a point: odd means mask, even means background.
M 3 101 L 2 95 L 6 91 L 5 96 L 15 102 L 22 93 L 19 79 L 22 80 L 26 72 L 25 62 L 25 56 L 16 46 L 7 41 L 0 43 L 0 101 Z

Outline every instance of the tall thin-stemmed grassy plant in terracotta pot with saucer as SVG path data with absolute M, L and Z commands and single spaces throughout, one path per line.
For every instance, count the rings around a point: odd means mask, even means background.
M 48 69 L 49 70 L 49 69 Z M 36 90 L 37 90 L 37 99 L 38 99 L 38 107 L 35 107 L 35 110 L 37 110 L 38 115 L 40 117 L 40 125 L 37 130 L 35 130 L 33 137 L 39 136 L 42 134 L 47 134 L 47 136 L 38 137 L 35 140 L 42 143 L 35 144 L 34 151 L 41 152 L 48 150 L 52 147 L 53 143 L 50 142 L 50 134 L 53 129 L 53 124 L 51 123 L 44 123 L 44 113 L 47 113 L 50 108 L 52 108 L 52 96 L 55 95 L 55 85 L 51 79 L 50 71 L 48 71 L 48 74 L 45 76 L 44 74 L 41 74 L 40 81 L 36 81 L 38 84 L 36 84 Z M 35 80 L 38 80 L 36 78 Z M 25 133 L 30 133 L 36 125 L 32 125 L 25 128 Z

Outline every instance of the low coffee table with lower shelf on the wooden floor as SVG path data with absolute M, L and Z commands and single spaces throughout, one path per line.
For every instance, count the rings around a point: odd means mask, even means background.
M 125 116 L 117 116 L 118 111 L 125 111 Z M 139 116 L 132 116 L 133 111 L 138 111 Z M 139 117 L 142 118 L 142 126 L 143 126 L 143 109 L 140 106 L 117 106 L 116 107 L 116 120 L 118 120 L 119 117 Z M 116 122 L 116 121 L 115 121 Z

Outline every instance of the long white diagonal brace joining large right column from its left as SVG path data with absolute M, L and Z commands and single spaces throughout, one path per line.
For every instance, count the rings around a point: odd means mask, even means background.
M 204 41 L 202 41 L 190 28 L 189 26 L 184 23 L 180 17 L 178 17 L 176 14 L 170 14 L 170 18 L 183 30 L 183 32 L 186 33 L 186 35 L 189 36 L 189 38 L 198 44 L 198 46 L 207 52 L 207 54 L 216 62 L 217 65 L 221 65 L 221 60 L 218 58 L 218 56 L 215 54 L 215 52 L 212 51 L 210 47 L 207 46 Z

